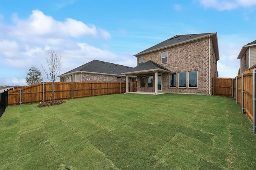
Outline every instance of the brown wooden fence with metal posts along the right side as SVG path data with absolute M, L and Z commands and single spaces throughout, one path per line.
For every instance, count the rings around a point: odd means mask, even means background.
M 241 105 L 241 113 L 246 113 L 256 133 L 256 69 L 239 74 L 235 78 L 213 78 L 212 94 L 232 96 Z

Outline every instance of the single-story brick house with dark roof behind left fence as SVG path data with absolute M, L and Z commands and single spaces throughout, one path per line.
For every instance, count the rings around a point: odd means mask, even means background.
M 125 82 L 121 74 L 132 67 L 104 61 L 93 60 L 60 75 L 60 82 Z M 136 81 L 136 76 L 129 76 L 129 81 Z

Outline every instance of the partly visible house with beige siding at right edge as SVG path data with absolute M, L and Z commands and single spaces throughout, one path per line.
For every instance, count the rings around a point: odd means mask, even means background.
M 244 45 L 237 57 L 240 59 L 240 70 L 238 74 L 255 68 L 256 64 L 256 40 Z

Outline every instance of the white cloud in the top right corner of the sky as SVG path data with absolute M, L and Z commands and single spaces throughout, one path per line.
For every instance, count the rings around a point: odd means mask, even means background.
M 215 8 L 217 10 L 234 10 L 239 6 L 251 7 L 256 5 L 255 0 L 200 0 L 205 8 Z

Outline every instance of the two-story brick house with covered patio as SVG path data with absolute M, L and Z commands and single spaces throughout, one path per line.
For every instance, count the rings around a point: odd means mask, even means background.
M 176 35 L 134 56 L 137 66 L 123 74 L 137 76 L 138 92 L 212 94 L 212 78 L 218 77 L 217 33 Z

